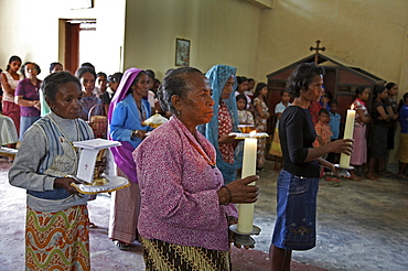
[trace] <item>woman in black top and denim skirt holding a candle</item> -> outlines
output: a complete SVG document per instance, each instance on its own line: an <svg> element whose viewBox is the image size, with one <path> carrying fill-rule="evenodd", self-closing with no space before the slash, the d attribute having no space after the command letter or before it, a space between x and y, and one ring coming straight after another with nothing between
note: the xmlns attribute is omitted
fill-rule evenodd
<svg viewBox="0 0 408 271"><path fill-rule="evenodd" d="M272 270L290 270L292 250L315 246L315 210L319 167L332 171L322 159L329 152L352 152L352 139L336 140L313 149L316 138L308 107L323 94L324 68L314 63L297 66L289 78L289 93L294 97L279 121L279 138L284 165L278 178L277 220L270 259Z"/></svg>

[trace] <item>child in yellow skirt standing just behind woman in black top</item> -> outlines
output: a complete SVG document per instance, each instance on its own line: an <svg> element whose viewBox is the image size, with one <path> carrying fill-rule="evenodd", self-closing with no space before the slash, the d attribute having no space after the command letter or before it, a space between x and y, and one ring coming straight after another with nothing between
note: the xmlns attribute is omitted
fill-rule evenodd
<svg viewBox="0 0 408 271"><path fill-rule="evenodd" d="M283 89L280 93L280 98L281 101L275 106L275 115L277 116L277 123L275 126L275 131L273 131L273 139L272 143L270 144L269 149L269 154L275 156L275 166L273 171L280 171L283 166L283 159L282 159L282 149L280 148L280 140L279 140L279 120L280 117L282 116L282 112L287 107L290 106L290 95L289 95L289 89ZM281 161L280 166L279 166L279 161Z"/></svg>

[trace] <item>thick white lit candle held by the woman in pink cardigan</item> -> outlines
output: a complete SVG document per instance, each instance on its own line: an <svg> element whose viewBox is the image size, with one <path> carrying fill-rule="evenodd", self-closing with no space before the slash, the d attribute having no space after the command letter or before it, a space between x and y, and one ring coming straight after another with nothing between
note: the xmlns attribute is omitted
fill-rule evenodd
<svg viewBox="0 0 408 271"><path fill-rule="evenodd" d="M250 132L254 137L256 131ZM244 160L241 178L256 174L257 165L257 139L247 138L244 142ZM249 185L255 185L250 183ZM243 234L253 232L254 204L239 204L238 207L238 231Z"/></svg>

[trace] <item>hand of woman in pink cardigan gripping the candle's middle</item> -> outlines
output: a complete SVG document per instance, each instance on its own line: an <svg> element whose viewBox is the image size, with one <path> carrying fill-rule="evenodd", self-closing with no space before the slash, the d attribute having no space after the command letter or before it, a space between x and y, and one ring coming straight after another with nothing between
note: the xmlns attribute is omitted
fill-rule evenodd
<svg viewBox="0 0 408 271"><path fill-rule="evenodd" d="M253 175L245 178L236 180L217 191L219 203L255 203L258 199L258 187L248 185L259 180L259 176ZM229 194L230 193L230 194Z"/></svg>

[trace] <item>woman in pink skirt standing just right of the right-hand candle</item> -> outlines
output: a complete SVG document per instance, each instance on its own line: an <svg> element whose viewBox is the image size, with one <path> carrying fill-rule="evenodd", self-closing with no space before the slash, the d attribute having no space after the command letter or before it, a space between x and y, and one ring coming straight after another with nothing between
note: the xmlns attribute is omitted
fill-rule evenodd
<svg viewBox="0 0 408 271"><path fill-rule="evenodd" d="M356 111L354 121L354 132L353 132L353 153L350 159L350 163L356 167L362 166L367 162L367 140L366 130L367 124L372 121L369 117L368 109L365 105L369 98L368 87L357 87L355 90L356 99L353 102L353 109ZM359 181L362 177L358 176L354 170L350 171L350 178L353 181Z"/></svg>

